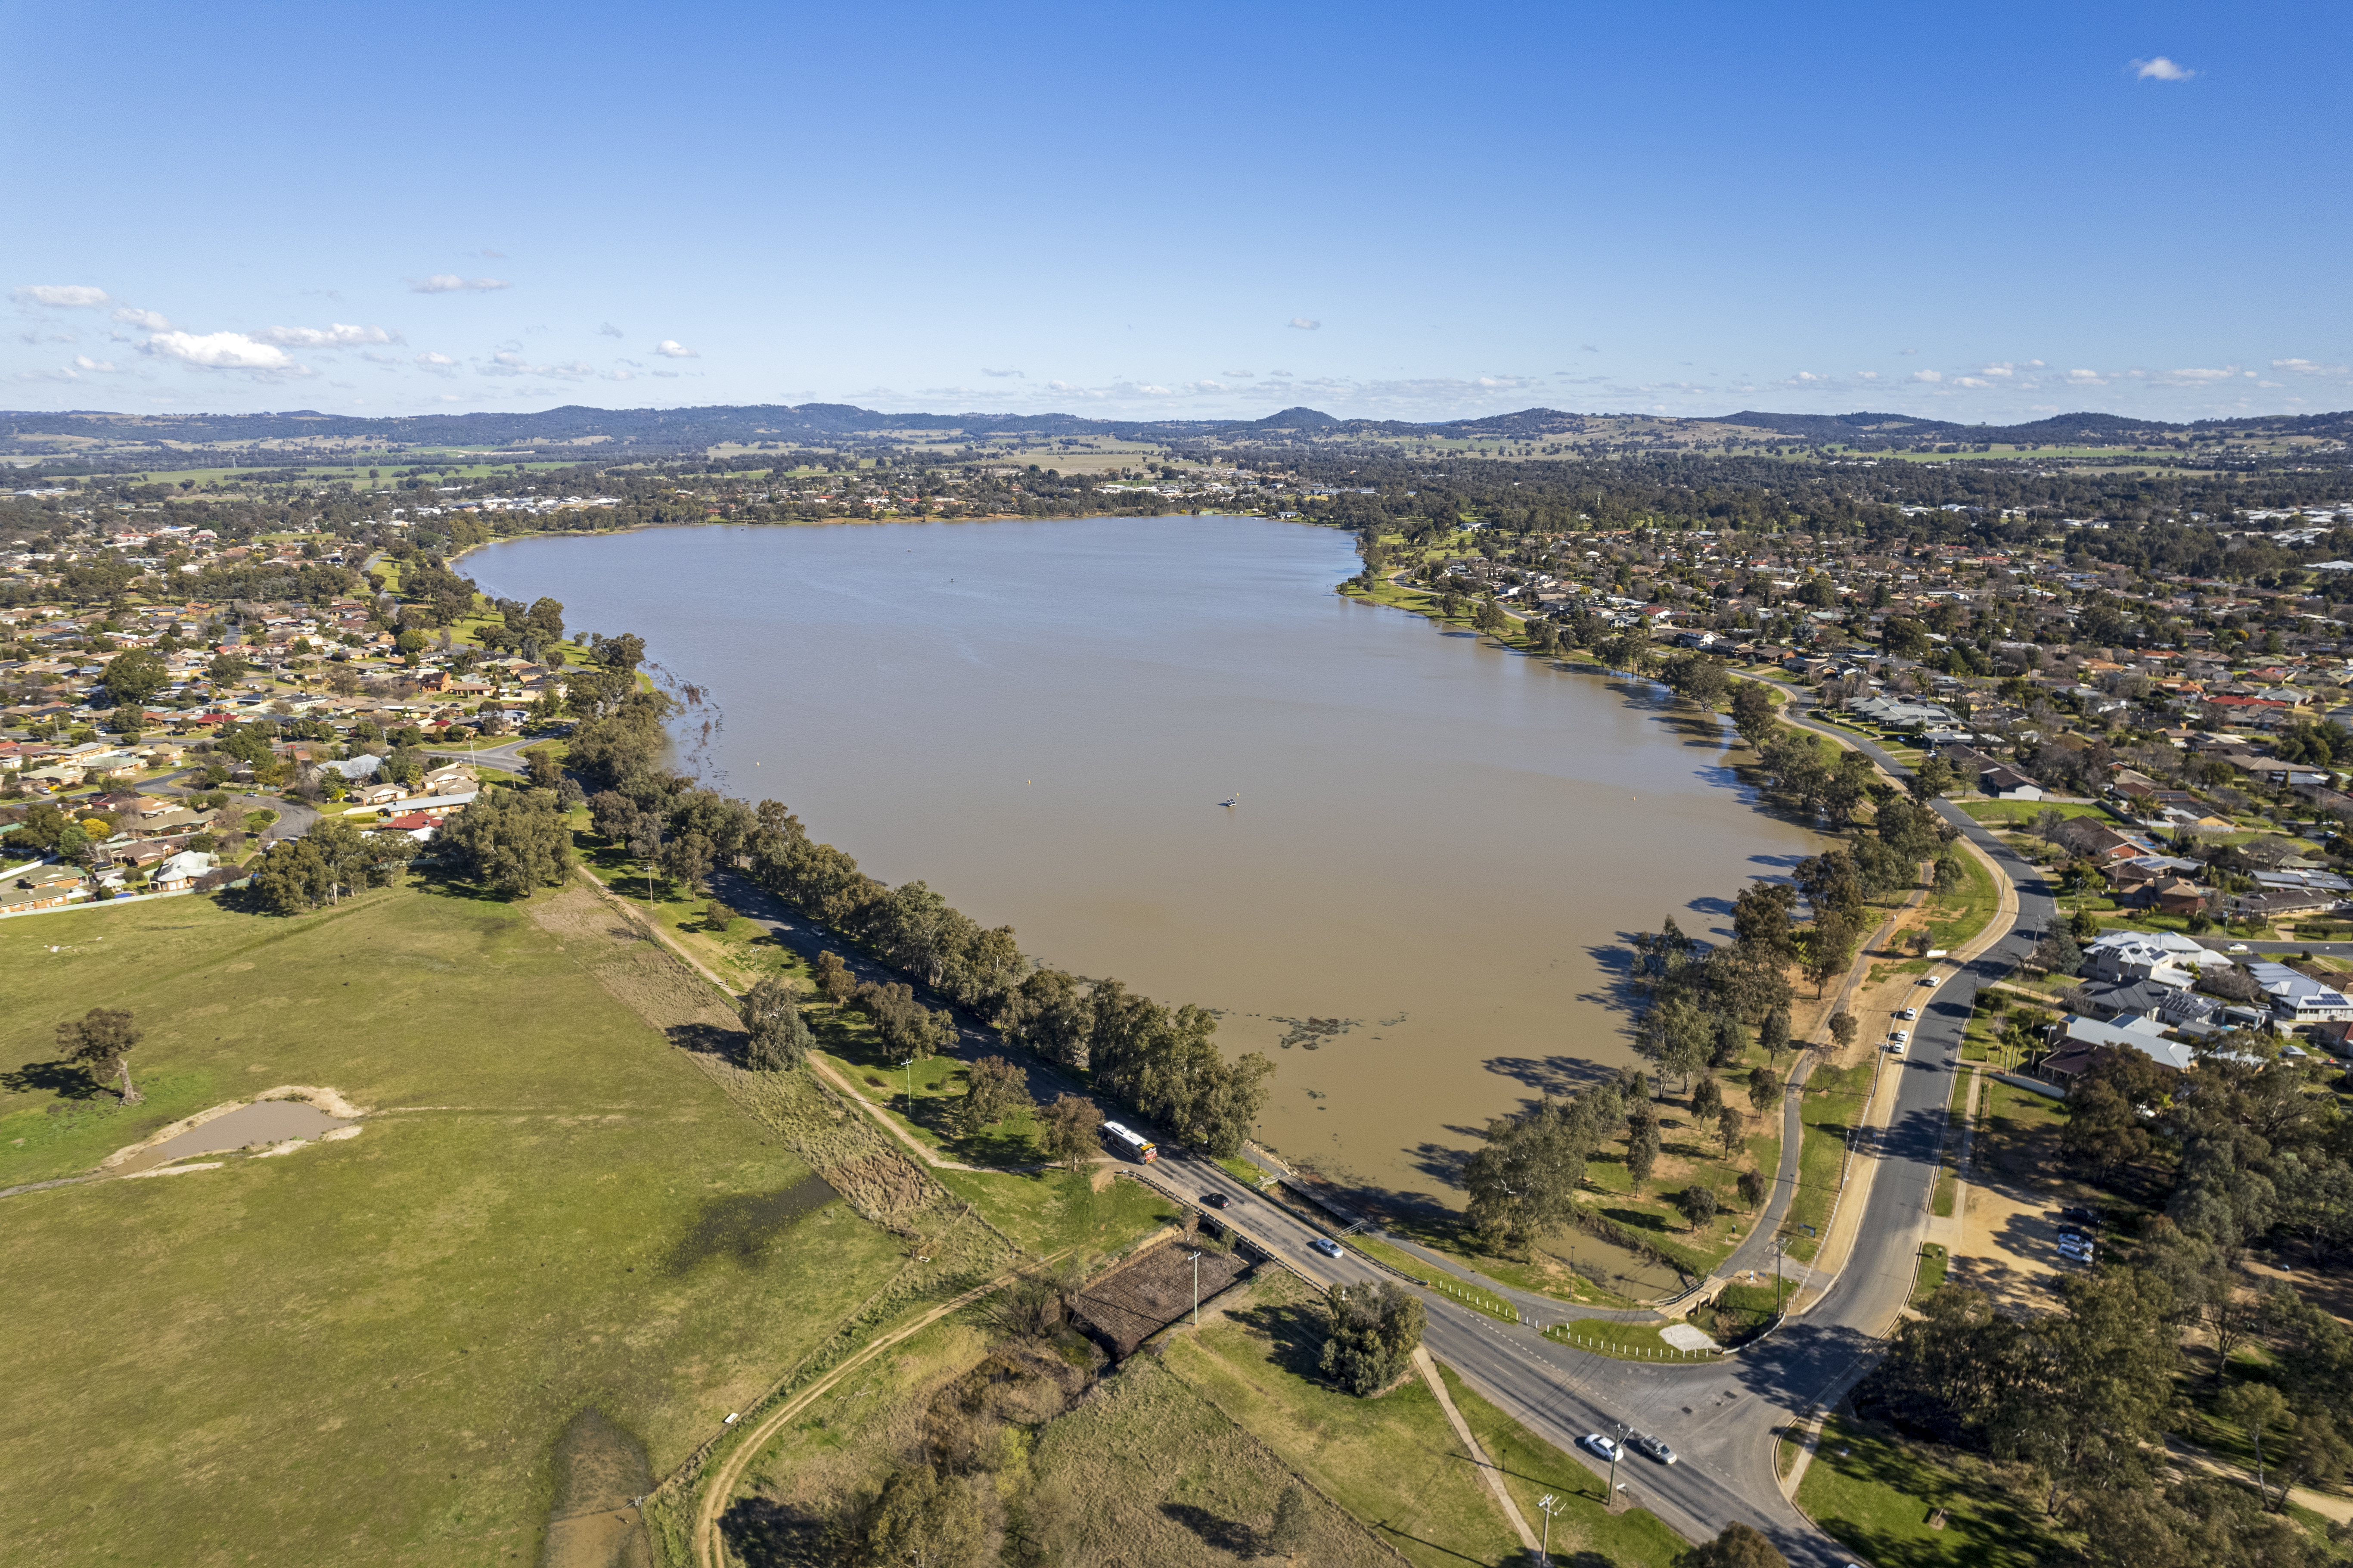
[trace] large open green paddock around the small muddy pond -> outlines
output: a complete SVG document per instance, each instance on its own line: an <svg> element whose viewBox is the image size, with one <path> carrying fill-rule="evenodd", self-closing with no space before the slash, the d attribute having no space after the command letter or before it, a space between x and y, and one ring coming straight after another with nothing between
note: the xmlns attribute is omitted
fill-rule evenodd
<svg viewBox="0 0 2353 1568"><path fill-rule="evenodd" d="M9 1561L527 1563L574 1415L659 1476L901 1276L849 1205L779 1205L809 1168L532 911L0 925L5 1182L285 1083L372 1109L285 1158L7 1198ZM52 1062L85 1005L136 1012L146 1107Z"/></svg>

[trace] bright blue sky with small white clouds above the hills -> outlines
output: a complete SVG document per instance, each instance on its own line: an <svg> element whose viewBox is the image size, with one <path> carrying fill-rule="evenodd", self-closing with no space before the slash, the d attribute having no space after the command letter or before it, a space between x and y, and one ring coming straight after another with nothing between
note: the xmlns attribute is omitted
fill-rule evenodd
<svg viewBox="0 0 2353 1568"><path fill-rule="evenodd" d="M2344 5L0 2L0 405L2353 405Z"/></svg>

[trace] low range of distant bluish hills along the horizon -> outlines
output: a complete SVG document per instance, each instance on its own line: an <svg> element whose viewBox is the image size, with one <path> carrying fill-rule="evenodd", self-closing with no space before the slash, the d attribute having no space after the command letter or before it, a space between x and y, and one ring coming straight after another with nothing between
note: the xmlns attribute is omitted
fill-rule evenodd
<svg viewBox="0 0 2353 1568"><path fill-rule="evenodd" d="M1529 407L1518 414L1412 424L1400 419L1334 419L1313 407L1287 407L1264 419L1082 419L1078 414L887 414L849 403L722 405L722 407L551 407L536 414L407 414L355 419L289 410L280 414L108 414L0 412L0 454L125 457L172 447L259 459L313 457L320 447L466 450L515 457L581 459L619 454L689 454L711 447L856 447L920 440L1078 440L1120 438L1153 443L1294 445L1294 443L1412 443L1473 440L1553 445L1560 450L1673 450L1732 445L1915 450L1953 447L2181 447L2228 440L2344 443L2353 414L2273 414L2162 424L2120 414L2054 414L2033 424L1951 424L1913 414L1767 414L1744 410L1701 419L1649 414L1567 414Z"/></svg>

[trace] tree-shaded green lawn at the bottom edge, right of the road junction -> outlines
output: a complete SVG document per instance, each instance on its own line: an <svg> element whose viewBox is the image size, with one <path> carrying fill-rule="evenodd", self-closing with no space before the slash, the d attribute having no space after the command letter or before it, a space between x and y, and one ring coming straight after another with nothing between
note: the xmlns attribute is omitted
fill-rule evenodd
<svg viewBox="0 0 2353 1568"><path fill-rule="evenodd" d="M1969 1455L1908 1443L1833 1415L1798 1483L1798 1507L1873 1563L2047 1568L2071 1542L2042 1528L2033 1479ZM1929 1523L1944 1514L1944 1528Z"/></svg>

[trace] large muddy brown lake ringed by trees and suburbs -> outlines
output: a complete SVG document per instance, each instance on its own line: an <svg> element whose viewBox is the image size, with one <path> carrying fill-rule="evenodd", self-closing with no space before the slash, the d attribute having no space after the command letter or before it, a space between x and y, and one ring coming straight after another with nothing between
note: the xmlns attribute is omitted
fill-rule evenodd
<svg viewBox="0 0 2353 1568"><path fill-rule="evenodd" d="M466 570L711 690L729 793L1047 963L1219 1008L1280 1069L1264 1140L1398 1198L1459 1205L1475 1128L1633 1059L1621 932L1722 928L1814 850L1661 687L1339 598L1334 530L689 527Z"/></svg>

